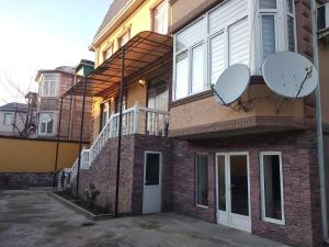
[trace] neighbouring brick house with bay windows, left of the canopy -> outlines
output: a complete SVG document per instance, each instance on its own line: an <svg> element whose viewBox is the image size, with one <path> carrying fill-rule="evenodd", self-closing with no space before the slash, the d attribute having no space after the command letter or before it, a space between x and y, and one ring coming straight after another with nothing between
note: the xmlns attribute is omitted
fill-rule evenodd
<svg viewBox="0 0 329 247"><path fill-rule="evenodd" d="M36 136L38 138L56 139L58 136L58 123L60 113L61 96L70 89L75 82L81 79L86 71L93 69L93 63L81 60L73 67L61 66L50 70L38 70L35 81L38 82L37 100L37 126ZM78 74L76 74L76 71ZM86 106L87 122L90 122L91 104ZM79 141L80 128L77 124L81 122L81 98L66 97L63 98L61 128L60 139ZM86 124L83 128L83 141L90 139L91 125Z"/></svg>

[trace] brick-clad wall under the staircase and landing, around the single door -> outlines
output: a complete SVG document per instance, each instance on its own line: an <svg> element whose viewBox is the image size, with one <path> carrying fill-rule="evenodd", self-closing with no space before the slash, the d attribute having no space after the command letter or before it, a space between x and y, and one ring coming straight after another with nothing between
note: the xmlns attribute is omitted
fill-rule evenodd
<svg viewBox="0 0 329 247"><path fill-rule="evenodd" d="M144 153L162 153L162 211L171 211L171 141L164 137L129 135L122 138L118 212L143 213ZM117 138L109 139L89 170L81 170L79 194L83 197L89 183L100 195L98 204L114 210L116 188Z"/></svg>

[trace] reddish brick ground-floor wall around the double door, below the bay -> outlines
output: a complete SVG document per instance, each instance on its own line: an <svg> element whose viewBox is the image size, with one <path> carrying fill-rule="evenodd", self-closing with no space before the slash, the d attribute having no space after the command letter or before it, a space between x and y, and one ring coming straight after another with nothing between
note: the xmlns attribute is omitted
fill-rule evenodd
<svg viewBox="0 0 329 247"><path fill-rule="evenodd" d="M293 246L320 246L321 215L319 179L314 132L266 134L225 139L178 141L173 144L174 210L215 222L216 151L249 151L252 233ZM261 220L259 153L280 150L283 157L285 225ZM194 203L194 154L207 153L209 207Z"/></svg>

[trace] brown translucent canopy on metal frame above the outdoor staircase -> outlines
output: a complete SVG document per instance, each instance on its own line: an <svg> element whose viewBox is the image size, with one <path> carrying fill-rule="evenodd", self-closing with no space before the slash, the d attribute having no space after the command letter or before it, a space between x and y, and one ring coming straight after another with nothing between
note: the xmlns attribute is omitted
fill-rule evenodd
<svg viewBox="0 0 329 247"><path fill-rule="evenodd" d="M83 83L87 82L86 97L104 97L117 92L121 83L122 49L124 48L124 79L143 74L149 65L172 53L172 37L145 31L131 38L124 47L116 50L84 80L81 79L63 97L83 96Z"/></svg>

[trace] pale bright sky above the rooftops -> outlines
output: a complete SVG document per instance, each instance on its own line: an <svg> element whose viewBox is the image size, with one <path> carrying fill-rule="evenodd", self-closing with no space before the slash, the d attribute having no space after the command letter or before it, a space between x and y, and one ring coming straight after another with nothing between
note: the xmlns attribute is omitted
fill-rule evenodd
<svg viewBox="0 0 329 247"><path fill-rule="evenodd" d="M0 105L36 91L38 69L94 60L88 46L111 2L0 0Z"/></svg>

